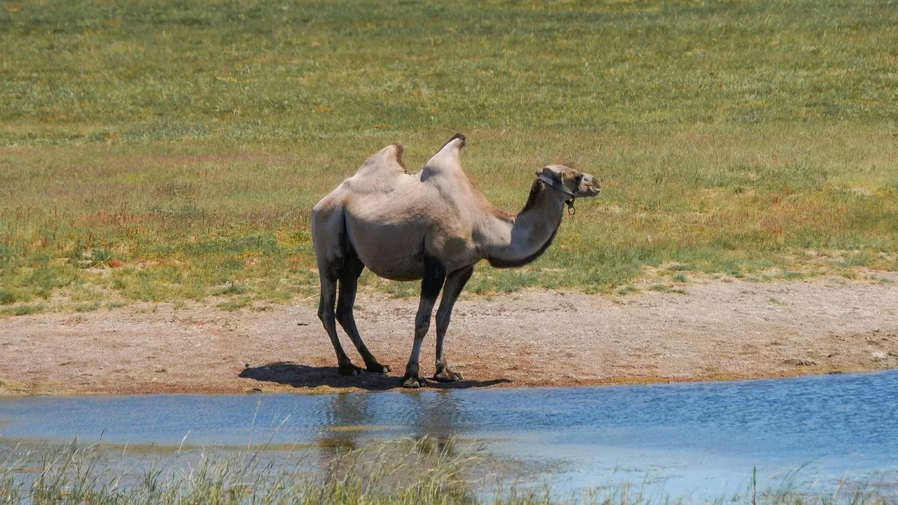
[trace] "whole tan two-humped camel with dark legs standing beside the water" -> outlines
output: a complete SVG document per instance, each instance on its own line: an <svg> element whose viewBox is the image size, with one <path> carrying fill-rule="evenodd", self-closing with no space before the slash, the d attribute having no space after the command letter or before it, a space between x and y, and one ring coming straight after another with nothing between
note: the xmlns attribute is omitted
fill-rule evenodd
<svg viewBox="0 0 898 505"><path fill-rule="evenodd" d="M415 340L401 384L424 385L418 377L418 355L440 290L434 379L462 380L462 374L447 365L443 344L453 305L474 265L487 260L494 267L512 268L537 259L552 243L565 203L573 208L574 199L599 193L592 175L550 164L536 172L524 209L516 216L506 214L489 203L462 170L464 141L456 134L419 173L406 171L402 146L386 146L313 208L312 237L321 276L318 315L337 351L339 374L355 375L362 368L353 365L340 346L337 322L367 371L390 371L365 347L353 317L357 279L367 267L385 279L421 279Z"/></svg>

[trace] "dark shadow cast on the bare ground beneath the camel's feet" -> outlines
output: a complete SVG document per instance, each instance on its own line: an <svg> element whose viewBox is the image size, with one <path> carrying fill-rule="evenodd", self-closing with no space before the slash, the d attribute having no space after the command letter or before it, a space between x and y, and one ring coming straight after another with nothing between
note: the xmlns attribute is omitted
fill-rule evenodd
<svg viewBox="0 0 898 505"><path fill-rule="evenodd" d="M333 388L357 388L365 391L389 391L402 389L400 376L390 374L373 374L362 372L357 376L341 376L337 367L310 367L292 361L278 361L260 367L243 368L240 377L260 382L274 382L292 385L293 387L318 387L321 385ZM488 387L490 385L512 382L506 378L492 380L462 380L458 382L436 382L427 379L423 389L467 389L469 387Z"/></svg>

